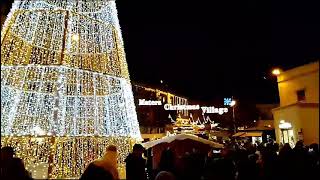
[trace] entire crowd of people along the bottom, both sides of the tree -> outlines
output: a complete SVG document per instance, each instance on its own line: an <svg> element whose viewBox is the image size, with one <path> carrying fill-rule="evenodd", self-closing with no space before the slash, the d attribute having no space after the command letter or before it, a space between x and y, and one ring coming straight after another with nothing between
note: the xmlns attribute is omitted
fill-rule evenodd
<svg viewBox="0 0 320 180"><path fill-rule="evenodd" d="M128 180L255 180L311 179L319 177L319 145L304 146L298 141L294 148L273 141L226 142L223 149L202 154L194 149L176 155L165 149L158 166L147 166L145 149L135 144L126 158ZM90 163L80 179L118 180L117 147L107 147L105 155ZM23 161L14 157L11 147L1 148L1 179L32 179Z"/></svg>

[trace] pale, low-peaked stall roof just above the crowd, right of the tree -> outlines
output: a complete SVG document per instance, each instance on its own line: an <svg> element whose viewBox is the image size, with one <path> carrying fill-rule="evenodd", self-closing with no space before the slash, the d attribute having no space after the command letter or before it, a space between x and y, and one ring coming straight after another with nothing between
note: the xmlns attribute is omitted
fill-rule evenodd
<svg viewBox="0 0 320 180"><path fill-rule="evenodd" d="M200 142L203 144L207 144L213 148L223 148L222 144L215 143L215 142L209 141L207 139L203 139L198 136L190 135L190 134L178 134L178 135L174 135L174 136L168 136L168 137L164 137L162 139L158 139L155 141L145 142L142 145L144 148L149 149L149 148L156 146L158 144L161 144L161 143L171 143L176 140L188 140L188 139L193 140L193 141L197 141L197 142Z"/></svg>

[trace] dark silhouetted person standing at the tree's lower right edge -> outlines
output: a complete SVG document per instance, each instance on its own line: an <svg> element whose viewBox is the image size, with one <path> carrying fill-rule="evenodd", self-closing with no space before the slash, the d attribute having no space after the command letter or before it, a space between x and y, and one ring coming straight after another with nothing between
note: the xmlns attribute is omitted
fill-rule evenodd
<svg viewBox="0 0 320 180"><path fill-rule="evenodd" d="M135 144L133 151L130 153L126 162L126 177L127 180L146 180L145 171L146 160L142 157L144 148L141 144Z"/></svg>

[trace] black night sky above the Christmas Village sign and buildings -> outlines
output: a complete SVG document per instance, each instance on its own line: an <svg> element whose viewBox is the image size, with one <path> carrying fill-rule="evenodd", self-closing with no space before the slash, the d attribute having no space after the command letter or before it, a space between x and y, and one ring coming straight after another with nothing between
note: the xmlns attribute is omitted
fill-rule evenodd
<svg viewBox="0 0 320 180"><path fill-rule="evenodd" d="M117 7L131 79L162 79L193 99L272 103L272 67L320 57L319 6L304 1L118 0Z"/></svg>

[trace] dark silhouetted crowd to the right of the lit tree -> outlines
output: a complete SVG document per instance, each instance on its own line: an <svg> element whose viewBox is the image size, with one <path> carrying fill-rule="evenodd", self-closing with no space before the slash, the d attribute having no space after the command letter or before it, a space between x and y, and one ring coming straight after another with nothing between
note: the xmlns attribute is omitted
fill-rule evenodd
<svg viewBox="0 0 320 180"><path fill-rule="evenodd" d="M146 171L142 153L128 164L128 179L146 180L284 180L313 179L319 177L319 145L304 146L298 141L294 148L289 144L278 145L273 141L226 142L223 149L211 149L201 154L192 152L176 155L174 149L162 152L156 169ZM139 163L138 163L139 162Z"/></svg>

